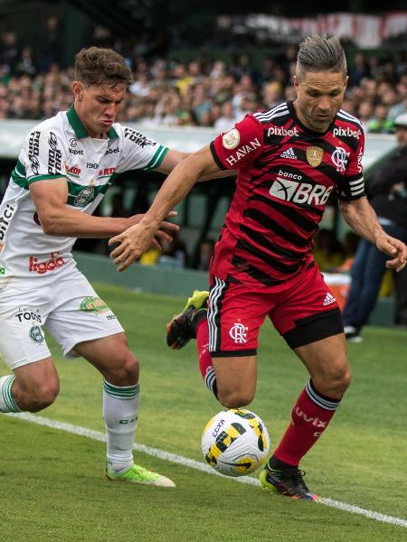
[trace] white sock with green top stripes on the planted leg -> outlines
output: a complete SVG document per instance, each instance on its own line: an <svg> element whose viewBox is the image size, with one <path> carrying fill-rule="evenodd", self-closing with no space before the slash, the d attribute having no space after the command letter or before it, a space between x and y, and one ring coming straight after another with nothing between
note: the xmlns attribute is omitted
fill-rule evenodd
<svg viewBox="0 0 407 542"><path fill-rule="evenodd" d="M116 474L133 465L140 385L114 386L103 380L103 417L108 441L108 470Z"/></svg>

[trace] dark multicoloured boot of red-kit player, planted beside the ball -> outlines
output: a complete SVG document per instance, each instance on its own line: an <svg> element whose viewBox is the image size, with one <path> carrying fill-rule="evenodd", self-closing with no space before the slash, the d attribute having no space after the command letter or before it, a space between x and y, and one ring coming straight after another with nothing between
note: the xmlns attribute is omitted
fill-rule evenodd
<svg viewBox="0 0 407 542"><path fill-rule="evenodd" d="M260 472L260 483L264 490L277 491L291 499L318 502L321 500L320 497L308 490L303 479L304 475L305 472L300 471L297 467L270 469L270 466L266 466Z"/></svg>

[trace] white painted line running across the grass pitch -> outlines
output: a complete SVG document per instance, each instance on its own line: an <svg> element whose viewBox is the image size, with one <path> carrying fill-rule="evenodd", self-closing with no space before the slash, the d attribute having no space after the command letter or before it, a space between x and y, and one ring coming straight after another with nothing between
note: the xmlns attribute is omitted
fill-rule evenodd
<svg viewBox="0 0 407 542"><path fill-rule="evenodd" d="M44 425L45 427L52 427L52 429L60 429L61 431L66 431L73 435L87 436L93 440L100 442L106 442L106 435L100 433L99 431L93 431L92 429L87 429L86 427L80 427L80 425L71 425L65 424L64 422L58 422L55 420L50 420L42 416L34 416L29 412L23 412L21 414L7 414L6 416L14 416L20 419L25 420L26 422L32 422L33 424ZM184 467L190 467L196 471L206 472L207 474L214 474L215 476L222 476L216 471L206 465L205 463L200 463L194 461L194 459L188 459L182 455L177 455L176 453L164 452L158 448L151 448L150 446L145 446L144 444L134 444L134 450L137 452L147 453L147 455L152 455L158 459L164 459L171 463L178 463ZM260 481L256 478L251 478L250 476L241 476L239 478L231 478L229 476L222 476L222 478L227 478L228 480L240 481L241 483L246 483L250 485L260 486ZM380 512L374 512L373 510L359 508L353 504L346 504L340 500L332 500L328 498L323 498L321 504L330 506L332 508L345 510L346 512L351 512L353 514L359 514L368 519L374 519L375 521L382 521L383 523L391 523L392 525L398 525L400 527L407 528L407 519L393 518L393 516L387 516L386 514L381 514Z"/></svg>

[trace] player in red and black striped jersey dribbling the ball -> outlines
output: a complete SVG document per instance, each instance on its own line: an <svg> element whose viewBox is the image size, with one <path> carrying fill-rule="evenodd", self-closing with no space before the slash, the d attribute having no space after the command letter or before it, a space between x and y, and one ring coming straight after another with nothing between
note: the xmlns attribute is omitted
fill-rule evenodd
<svg viewBox="0 0 407 542"><path fill-rule="evenodd" d="M349 386L345 335L336 298L312 257L329 194L346 222L405 266L407 248L387 235L364 196L364 134L340 107L345 53L337 38L313 36L299 46L297 99L247 115L211 145L179 164L139 224L111 239L118 270L149 246L168 210L203 176L237 170L236 191L211 265L211 289L195 293L168 327L173 348L197 338L206 385L227 407L251 403L260 325L266 317L308 369L291 423L260 473L263 486L317 500L298 468L327 428ZM207 306L207 308L206 308Z"/></svg>

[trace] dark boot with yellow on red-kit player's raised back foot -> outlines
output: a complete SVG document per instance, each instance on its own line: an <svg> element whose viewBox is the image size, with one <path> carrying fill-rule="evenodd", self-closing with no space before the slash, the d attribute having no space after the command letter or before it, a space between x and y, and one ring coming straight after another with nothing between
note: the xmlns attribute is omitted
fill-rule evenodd
<svg viewBox="0 0 407 542"><path fill-rule="evenodd" d="M188 297L182 313L177 314L166 324L166 344L180 350L190 339L196 337L196 324L206 317L206 305L209 292L194 290L194 294Z"/></svg>

